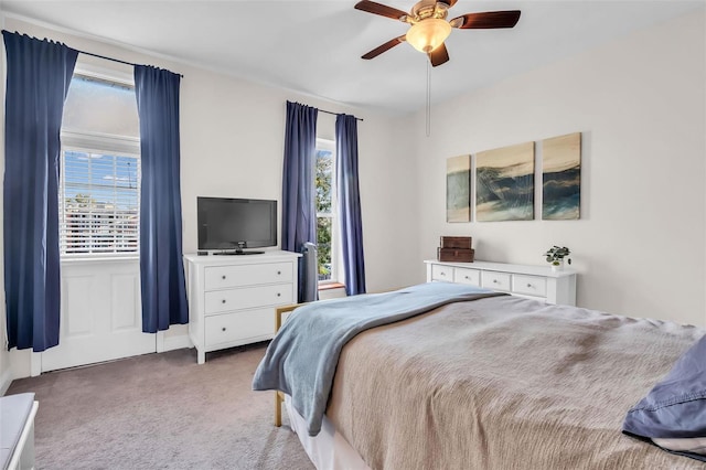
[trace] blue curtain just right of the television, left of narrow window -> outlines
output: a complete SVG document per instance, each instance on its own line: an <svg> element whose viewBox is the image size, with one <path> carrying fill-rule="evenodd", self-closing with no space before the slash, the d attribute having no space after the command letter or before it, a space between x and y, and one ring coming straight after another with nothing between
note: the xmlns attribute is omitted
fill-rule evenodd
<svg viewBox="0 0 706 470"><path fill-rule="evenodd" d="M287 102L285 171L282 174L282 249L301 253L307 242L317 243L314 159L319 110ZM304 298L304 263L299 259L299 299ZM315 299L313 299L315 300Z"/></svg>

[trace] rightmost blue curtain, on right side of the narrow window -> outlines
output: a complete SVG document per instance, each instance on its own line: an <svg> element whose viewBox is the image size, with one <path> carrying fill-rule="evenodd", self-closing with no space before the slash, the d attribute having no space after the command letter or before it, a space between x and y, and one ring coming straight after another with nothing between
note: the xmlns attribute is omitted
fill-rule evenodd
<svg viewBox="0 0 706 470"><path fill-rule="evenodd" d="M336 116L335 141L345 291L349 296L354 296L365 293L361 191L357 182L357 119L355 116Z"/></svg>

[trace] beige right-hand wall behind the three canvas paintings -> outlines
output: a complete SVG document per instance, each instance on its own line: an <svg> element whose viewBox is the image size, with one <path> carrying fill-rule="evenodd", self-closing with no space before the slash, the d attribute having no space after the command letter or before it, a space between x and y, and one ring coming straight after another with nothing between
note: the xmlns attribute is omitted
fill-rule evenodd
<svg viewBox="0 0 706 470"><path fill-rule="evenodd" d="M532 265L566 245L580 306L706 325L704 38L699 12L434 107L415 141L418 258L440 235ZM424 136L424 114L407 127ZM537 169L535 221L446 223L447 158L569 132L584 137L580 221L541 221Z"/></svg>

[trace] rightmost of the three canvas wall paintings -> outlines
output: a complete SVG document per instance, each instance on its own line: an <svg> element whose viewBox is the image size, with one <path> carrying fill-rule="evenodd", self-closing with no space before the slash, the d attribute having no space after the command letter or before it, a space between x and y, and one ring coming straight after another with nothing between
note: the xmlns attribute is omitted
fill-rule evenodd
<svg viewBox="0 0 706 470"><path fill-rule="evenodd" d="M574 221L580 215L581 133L542 141L542 218Z"/></svg>

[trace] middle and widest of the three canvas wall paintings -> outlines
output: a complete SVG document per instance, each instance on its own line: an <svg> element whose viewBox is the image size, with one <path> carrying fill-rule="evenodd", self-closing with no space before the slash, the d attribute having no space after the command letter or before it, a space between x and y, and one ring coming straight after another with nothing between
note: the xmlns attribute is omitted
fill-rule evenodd
<svg viewBox="0 0 706 470"><path fill-rule="evenodd" d="M534 142L475 156L475 220L534 220Z"/></svg>

